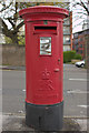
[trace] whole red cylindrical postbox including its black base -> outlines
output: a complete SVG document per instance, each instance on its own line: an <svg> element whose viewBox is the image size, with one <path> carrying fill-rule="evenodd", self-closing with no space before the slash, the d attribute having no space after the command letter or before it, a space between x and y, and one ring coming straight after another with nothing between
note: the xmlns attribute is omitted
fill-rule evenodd
<svg viewBox="0 0 89 133"><path fill-rule="evenodd" d="M26 24L26 123L58 131L63 117L62 22L68 11L39 6L19 14Z"/></svg>

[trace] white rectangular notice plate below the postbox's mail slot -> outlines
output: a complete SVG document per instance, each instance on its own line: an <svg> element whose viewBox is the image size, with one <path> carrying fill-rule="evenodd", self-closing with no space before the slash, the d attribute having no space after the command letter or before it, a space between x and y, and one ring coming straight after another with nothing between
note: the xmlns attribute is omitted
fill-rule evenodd
<svg viewBox="0 0 89 133"><path fill-rule="evenodd" d="M51 55L51 37L40 37L40 55Z"/></svg>

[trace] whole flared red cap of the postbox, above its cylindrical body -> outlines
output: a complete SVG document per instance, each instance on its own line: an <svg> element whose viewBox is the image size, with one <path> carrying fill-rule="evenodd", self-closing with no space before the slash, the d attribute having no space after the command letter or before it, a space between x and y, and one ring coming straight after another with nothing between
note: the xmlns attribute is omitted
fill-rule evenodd
<svg viewBox="0 0 89 133"><path fill-rule="evenodd" d="M69 16L69 11L53 6L36 6L19 11L26 21L56 20L60 21Z"/></svg>

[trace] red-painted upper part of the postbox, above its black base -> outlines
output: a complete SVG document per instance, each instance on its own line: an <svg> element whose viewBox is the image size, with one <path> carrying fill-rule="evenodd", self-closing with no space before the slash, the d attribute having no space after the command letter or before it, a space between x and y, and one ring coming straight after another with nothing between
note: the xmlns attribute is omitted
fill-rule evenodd
<svg viewBox="0 0 89 133"><path fill-rule="evenodd" d="M33 104L60 103L63 100L62 19L68 11L55 7L33 7L19 13L26 24L26 101ZM51 53L40 54L41 39L51 40Z"/></svg>

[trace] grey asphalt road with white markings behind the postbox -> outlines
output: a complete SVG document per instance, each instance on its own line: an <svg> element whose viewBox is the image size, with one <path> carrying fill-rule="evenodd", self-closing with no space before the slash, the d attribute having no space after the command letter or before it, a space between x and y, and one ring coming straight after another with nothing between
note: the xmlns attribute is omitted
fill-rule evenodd
<svg viewBox="0 0 89 133"><path fill-rule="evenodd" d="M65 116L87 116L87 71L75 65L63 65ZM2 71L2 112L24 113L26 71Z"/></svg>

